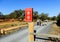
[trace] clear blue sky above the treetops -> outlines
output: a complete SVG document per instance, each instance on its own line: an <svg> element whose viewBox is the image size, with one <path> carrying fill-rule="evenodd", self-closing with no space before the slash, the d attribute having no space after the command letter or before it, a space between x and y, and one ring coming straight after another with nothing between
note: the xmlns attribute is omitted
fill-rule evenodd
<svg viewBox="0 0 60 42"><path fill-rule="evenodd" d="M0 0L0 12L3 14L30 7L39 13L57 16L60 13L60 0Z"/></svg>

